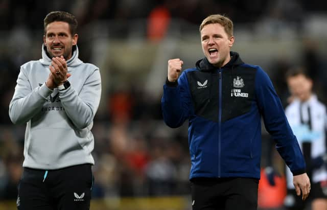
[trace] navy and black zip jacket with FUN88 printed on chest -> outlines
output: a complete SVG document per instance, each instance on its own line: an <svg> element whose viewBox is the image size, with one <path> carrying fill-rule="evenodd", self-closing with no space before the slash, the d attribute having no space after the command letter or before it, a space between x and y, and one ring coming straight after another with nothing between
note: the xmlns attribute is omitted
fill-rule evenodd
<svg viewBox="0 0 327 210"><path fill-rule="evenodd" d="M166 81L162 113L171 128L189 120L190 179L260 178L261 117L293 175L305 160L268 75L245 64L238 53L222 68L206 58Z"/></svg>

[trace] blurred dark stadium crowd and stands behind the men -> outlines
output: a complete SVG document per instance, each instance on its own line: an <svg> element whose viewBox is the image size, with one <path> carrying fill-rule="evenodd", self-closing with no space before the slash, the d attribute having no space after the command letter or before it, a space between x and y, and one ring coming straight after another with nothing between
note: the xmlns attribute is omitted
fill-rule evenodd
<svg viewBox="0 0 327 210"><path fill-rule="evenodd" d="M92 130L96 182L91 209L191 209L188 125L168 128L160 97L168 59L181 58L185 69L203 57L198 27L209 14L233 20L232 50L265 69L284 105L289 92L283 75L292 65L310 69L326 102L324 1L0 0L0 209L15 209L23 159L25 126L12 125L8 105L19 66L41 56L43 18L54 10L78 18L80 58L98 65L102 75ZM262 167L267 165L284 172L263 129ZM261 208L282 209L283 183L274 201L267 201L274 197L265 194L269 186L260 192Z"/></svg>

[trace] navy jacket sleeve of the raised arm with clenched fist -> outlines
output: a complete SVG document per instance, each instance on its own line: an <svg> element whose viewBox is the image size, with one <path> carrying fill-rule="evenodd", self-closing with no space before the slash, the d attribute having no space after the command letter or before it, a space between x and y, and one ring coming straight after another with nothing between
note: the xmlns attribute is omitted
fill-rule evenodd
<svg viewBox="0 0 327 210"><path fill-rule="evenodd" d="M171 128L181 126L190 116L192 100L185 71L177 82L166 80L164 94L161 98L162 115Z"/></svg>

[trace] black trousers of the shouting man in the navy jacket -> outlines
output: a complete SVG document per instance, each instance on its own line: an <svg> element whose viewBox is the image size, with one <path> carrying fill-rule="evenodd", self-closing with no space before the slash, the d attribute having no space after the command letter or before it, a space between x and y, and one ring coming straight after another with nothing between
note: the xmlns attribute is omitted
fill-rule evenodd
<svg viewBox="0 0 327 210"><path fill-rule="evenodd" d="M256 210L259 180L254 178L194 178L193 210Z"/></svg>

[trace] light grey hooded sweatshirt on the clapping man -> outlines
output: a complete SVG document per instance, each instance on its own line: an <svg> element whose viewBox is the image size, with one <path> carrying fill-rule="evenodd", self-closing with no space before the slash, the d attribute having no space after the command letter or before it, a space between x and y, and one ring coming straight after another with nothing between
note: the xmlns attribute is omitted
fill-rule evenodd
<svg viewBox="0 0 327 210"><path fill-rule="evenodd" d="M74 46L67 60L71 86L50 90L45 81L51 58L45 52L42 45L42 58L20 67L9 105L11 121L26 123L23 167L53 170L94 164L91 128L101 96L99 68L83 63Z"/></svg>

